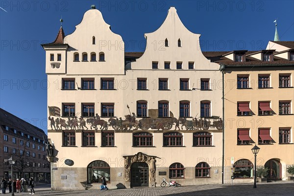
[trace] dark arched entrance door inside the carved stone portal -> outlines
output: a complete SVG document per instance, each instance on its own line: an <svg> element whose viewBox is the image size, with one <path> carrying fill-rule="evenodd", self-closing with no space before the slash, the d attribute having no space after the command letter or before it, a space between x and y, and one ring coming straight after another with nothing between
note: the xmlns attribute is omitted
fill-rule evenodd
<svg viewBox="0 0 294 196"><path fill-rule="evenodd" d="M136 162L131 165L131 186L149 186L149 167L147 163Z"/></svg>

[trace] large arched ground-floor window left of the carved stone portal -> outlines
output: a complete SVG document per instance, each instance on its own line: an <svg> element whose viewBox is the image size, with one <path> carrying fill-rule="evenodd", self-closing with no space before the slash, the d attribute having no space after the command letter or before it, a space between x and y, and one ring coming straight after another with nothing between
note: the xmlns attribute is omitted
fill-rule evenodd
<svg viewBox="0 0 294 196"><path fill-rule="evenodd" d="M101 177L105 177L110 183L110 166L105 161L93 161L87 167L88 183L101 183Z"/></svg>

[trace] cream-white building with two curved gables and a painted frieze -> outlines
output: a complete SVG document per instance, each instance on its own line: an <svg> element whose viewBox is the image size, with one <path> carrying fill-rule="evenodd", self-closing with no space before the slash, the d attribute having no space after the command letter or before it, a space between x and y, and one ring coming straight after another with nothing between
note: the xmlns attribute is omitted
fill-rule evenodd
<svg viewBox="0 0 294 196"><path fill-rule="evenodd" d="M221 183L219 64L199 48L176 9L147 49L125 63L123 39L94 7L46 50L53 190ZM201 117L201 118L200 118ZM52 126L50 126L50 124ZM180 130L179 130L180 129Z"/></svg>

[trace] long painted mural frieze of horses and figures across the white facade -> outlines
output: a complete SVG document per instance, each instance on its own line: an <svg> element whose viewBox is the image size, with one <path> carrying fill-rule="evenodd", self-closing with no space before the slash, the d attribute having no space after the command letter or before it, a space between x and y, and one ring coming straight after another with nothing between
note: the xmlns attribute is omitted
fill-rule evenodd
<svg viewBox="0 0 294 196"><path fill-rule="evenodd" d="M205 118L158 117L157 109L148 110L149 117L138 120L135 113L120 118L103 120L98 114L95 117L60 117L60 109L49 106L49 126L52 130L115 130L116 132L132 132L136 130L208 130L222 129L222 120L218 116ZM54 117L51 117L54 116ZM188 120L189 119L189 120ZM191 119L191 120L190 120Z"/></svg>

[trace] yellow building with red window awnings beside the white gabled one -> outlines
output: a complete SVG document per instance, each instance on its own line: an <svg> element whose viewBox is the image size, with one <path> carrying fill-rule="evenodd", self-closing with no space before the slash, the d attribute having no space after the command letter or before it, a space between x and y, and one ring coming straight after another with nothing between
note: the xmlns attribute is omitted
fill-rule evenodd
<svg viewBox="0 0 294 196"><path fill-rule="evenodd" d="M270 170L268 180L290 176L286 169L294 164L293 46L294 42L271 41L267 50L220 56L225 84L225 183L231 175L237 183L253 181L254 145L260 147L257 167Z"/></svg>

